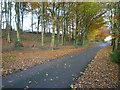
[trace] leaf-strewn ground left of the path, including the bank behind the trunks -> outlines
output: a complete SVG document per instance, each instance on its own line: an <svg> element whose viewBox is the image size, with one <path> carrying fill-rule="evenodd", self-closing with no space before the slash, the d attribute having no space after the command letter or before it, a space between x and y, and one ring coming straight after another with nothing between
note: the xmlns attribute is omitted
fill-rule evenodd
<svg viewBox="0 0 120 90"><path fill-rule="evenodd" d="M92 46L78 47L66 42L66 45L59 45L59 48L51 51L50 42L51 37L49 34L45 36L44 48L41 49L40 35L32 33L22 33L21 43L24 47L22 49L14 48L14 42L16 39L16 32L11 33L11 43L7 43L7 32L3 30L2 38L2 75L6 76L10 73L26 70L38 64L42 64L46 61L54 60L55 58L62 57L68 54L80 52ZM68 44L67 44L68 43Z"/></svg>

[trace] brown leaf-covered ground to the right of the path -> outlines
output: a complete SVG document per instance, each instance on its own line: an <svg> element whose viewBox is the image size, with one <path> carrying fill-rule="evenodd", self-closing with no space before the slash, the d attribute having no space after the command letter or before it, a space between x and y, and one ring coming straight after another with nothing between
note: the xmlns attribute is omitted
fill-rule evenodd
<svg viewBox="0 0 120 90"><path fill-rule="evenodd" d="M120 66L109 60L111 47L101 49L85 69L73 88L118 88Z"/></svg>

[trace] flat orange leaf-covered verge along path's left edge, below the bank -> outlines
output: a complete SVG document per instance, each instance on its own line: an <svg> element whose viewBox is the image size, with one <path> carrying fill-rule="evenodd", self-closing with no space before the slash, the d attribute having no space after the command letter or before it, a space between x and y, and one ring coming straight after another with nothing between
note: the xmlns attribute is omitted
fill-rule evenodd
<svg viewBox="0 0 120 90"><path fill-rule="evenodd" d="M80 52L94 47L95 45L73 48L72 46L62 46L57 50L13 50L2 52L2 75L26 70L44 62L55 60L56 58Z"/></svg>

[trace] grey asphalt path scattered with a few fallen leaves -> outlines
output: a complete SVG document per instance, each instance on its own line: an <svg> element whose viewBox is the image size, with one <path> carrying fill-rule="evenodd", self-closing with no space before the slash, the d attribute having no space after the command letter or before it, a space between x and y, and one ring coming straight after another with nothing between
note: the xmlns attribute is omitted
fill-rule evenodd
<svg viewBox="0 0 120 90"><path fill-rule="evenodd" d="M108 43L2 77L3 88L69 88Z"/></svg>

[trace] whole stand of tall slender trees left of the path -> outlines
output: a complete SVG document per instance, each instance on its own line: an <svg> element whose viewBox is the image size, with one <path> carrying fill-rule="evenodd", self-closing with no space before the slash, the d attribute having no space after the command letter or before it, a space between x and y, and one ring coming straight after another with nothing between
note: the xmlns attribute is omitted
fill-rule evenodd
<svg viewBox="0 0 120 90"><path fill-rule="evenodd" d="M12 2L13 3L13 2ZM11 6L11 3L8 3ZM8 42L10 42L11 8L5 6ZM105 24L106 7L98 2L15 2L17 40L21 41L20 32L23 31L25 11L31 13L31 28L33 32L33 16L37 16L37 34L41 32L41 46L47 27L51 33L51 48L58 48L66 42L74 42L75 46L84 45L88 34ZM9 11L9 12L8 12ZM1 13L2 14L2 13ZM50 28L52 27L52 28ZM40 30L41 29L41 30ZM47 30L48 31L48 30ZM60 40L61 39L61 40Z"/></svg>

